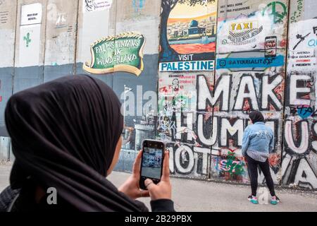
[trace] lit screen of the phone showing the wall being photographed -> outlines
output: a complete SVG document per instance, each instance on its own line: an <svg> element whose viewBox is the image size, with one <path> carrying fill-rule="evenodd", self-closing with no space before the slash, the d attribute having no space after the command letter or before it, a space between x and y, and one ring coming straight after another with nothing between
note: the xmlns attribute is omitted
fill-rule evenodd
<svg viewBox="0 0 317 226"><path fill-rule="evenodd" d="M144 147L142 159L142 177L160 179L163 150Z"/></svg>

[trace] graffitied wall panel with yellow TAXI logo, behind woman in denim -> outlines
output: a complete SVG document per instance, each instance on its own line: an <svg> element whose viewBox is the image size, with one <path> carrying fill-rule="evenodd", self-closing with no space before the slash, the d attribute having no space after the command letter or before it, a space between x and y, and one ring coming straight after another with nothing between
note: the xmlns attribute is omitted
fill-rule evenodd
<svg viewBox="0 0 317 226"><path fill-rule="evenodd" d="M249 124L248 113L260 110L266 125L275 134L270 162L273 180L279 183L282 153L282 121L279 119L284 105L287 1L228 1L219 3L218 7L215 83L230 77L232 85L228 102L222 99L213 107L213 117L223 118L221 126L225 125L228 131L220 133L221 138L213 144L211 175L228 179L217 162L224 157L232 158L232 151L228 150L235 150L236 161L244 170L231 179L249 181L240 149L242 135ZM259 182L265 182L263 175Z"/></svg>

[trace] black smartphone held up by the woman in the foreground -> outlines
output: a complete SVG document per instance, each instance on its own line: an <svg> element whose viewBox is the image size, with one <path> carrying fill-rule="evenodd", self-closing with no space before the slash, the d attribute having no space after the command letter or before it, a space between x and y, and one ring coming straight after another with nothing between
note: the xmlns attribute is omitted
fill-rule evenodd
<svg viewBox="0 0 317 226"><path fill-rule="evenodd" d="M159 184L163 171L165 144L162 141L144 140L142 142L142 159L140 169L139 187L147 190L144 184L146 179L151 179L154 184Z"/></svg>

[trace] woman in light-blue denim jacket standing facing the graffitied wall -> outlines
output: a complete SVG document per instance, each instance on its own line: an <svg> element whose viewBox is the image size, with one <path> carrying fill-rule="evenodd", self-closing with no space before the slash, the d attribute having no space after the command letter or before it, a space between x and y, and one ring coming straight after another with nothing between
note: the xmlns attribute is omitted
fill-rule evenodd
<svg viewBox="0 0 317 226"><path fill-rule="evenodd" d="M249 114L252 124L247 126L243 134L242 155L247 162L249 177L251 180L251 196L249 201L258 204L256 190L258 187L258 165L266 178L266 184L272 196L271 204L278 204L278 197L275 196L274 183L271 177L268 157L273 152L274 134L271 128L264 124L264 117L261 112Z"/></svg>

